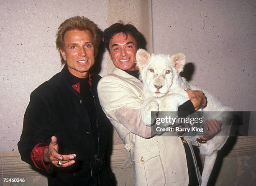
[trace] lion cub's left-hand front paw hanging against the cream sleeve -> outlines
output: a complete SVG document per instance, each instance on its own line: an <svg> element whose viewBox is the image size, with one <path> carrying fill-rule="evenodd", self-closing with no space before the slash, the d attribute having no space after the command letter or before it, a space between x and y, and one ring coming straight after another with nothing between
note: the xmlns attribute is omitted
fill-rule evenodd
<svg viewBox="0 0 256 186"><path fill-rule="evenodd" d="M158 112L158 103L154 98L147 98L142 105L142 121L146 126L151 126L154 124L156 116L152 116L151 111Z"/></svg>

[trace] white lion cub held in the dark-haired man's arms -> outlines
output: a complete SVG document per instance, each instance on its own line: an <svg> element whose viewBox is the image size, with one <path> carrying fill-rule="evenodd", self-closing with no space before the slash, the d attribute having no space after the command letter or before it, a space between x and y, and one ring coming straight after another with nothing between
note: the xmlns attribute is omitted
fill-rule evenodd
<svg viewBox="0 0 256 186"><path fill-rule="evenodd" d="M146 50L139 49L136 53L136 60L146 98L142 106L142 119L146 125L151 126L153 123L151 123L150 111L177 111L178 106L189 99L185 89L195 90L195 88L180 76L186 60L182 53L172 56L150 55ZM201 111L232 111L222 106L206 91L204 93L207 96L207 107ZM220 116L219 112L218 115L212 116L211 114L210 117L222 121L223 126L219 136L215 136L199 147L200 153L206 155L201 186L207 185L217 152L225 144L230 133L230 125L225 125L227 121L222 115ZM195 138L189 139L192 141Z"/></svg>

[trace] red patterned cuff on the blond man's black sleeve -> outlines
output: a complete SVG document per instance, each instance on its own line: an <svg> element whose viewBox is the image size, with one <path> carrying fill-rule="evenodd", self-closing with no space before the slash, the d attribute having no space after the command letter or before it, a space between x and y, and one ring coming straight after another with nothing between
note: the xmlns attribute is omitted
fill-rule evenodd
<svg viewBox="0 0 256 186"><path fill-rule="evenodd" d="M46 165L44 163L44 150L48 147L46 143L37 144L31 151L30 157L36 166L43 171L49 172L51 164Z"/></svg>

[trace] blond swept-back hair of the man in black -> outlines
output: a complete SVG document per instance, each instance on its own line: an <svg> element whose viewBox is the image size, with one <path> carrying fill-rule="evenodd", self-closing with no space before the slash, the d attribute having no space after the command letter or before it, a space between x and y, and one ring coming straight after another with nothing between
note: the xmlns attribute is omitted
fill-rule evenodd
<svg viewBox="0 0 256 186"><path fill-rule="evenodd" d="M93 23L91 20L85 18L84 16L74 16L65 20L61 25L59 25L57 34L56 34L56 48L59 50L61 56L61 63L65 64L66 61L63 59L60 50L64 50L65 42L64 35L69 30L88 30L92 33L93 46L94 46L94 57L98 53L98 48L100 45L100 29L98 26Z"/></svg>

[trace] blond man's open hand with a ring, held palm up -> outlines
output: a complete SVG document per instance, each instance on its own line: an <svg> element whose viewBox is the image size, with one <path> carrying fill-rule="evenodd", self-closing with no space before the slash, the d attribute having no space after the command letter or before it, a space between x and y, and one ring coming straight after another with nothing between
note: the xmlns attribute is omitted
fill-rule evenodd
<svg viewBox="0 0 256 186"><path fill-rule="evenodd" d="M51 142L49 147L44 150L44 161L50 162L54 166L59 167L58 162L60 161L62 167L71 166L75 161L76 154L61 155L58 153L59 146L57 143L57 138L51 136Z"/></svg>

